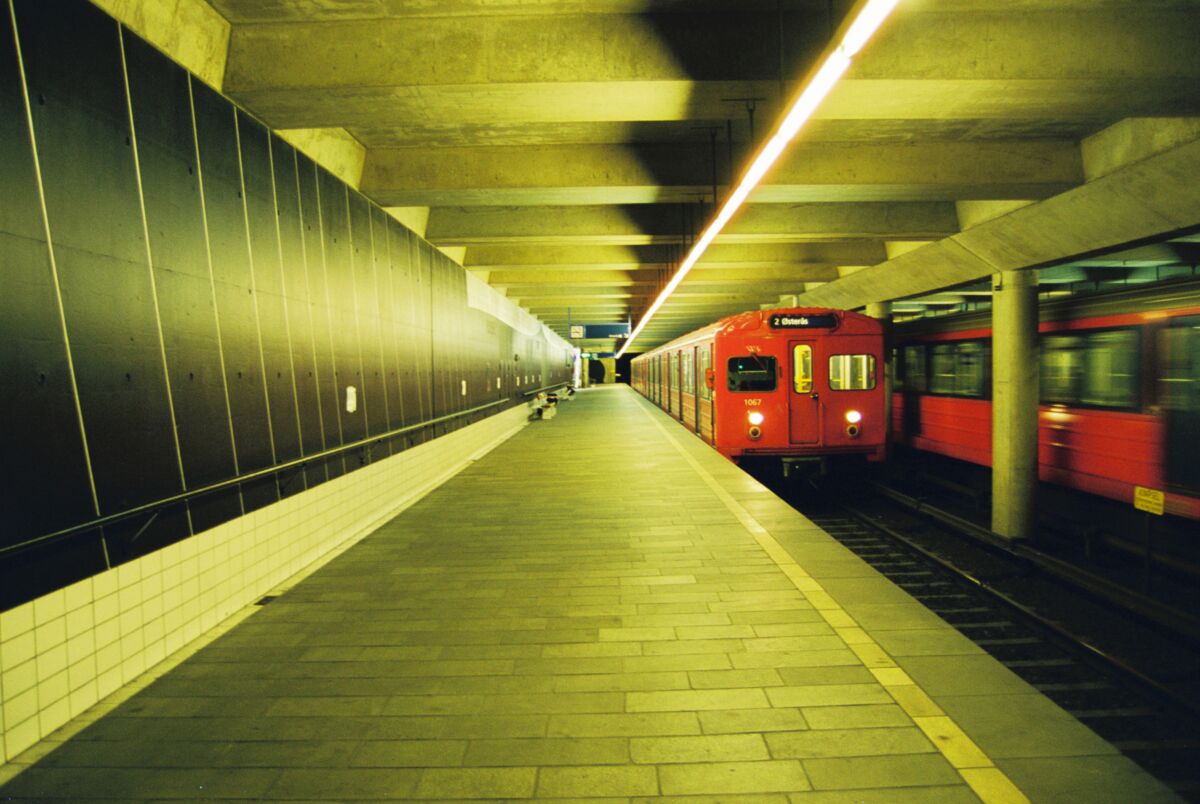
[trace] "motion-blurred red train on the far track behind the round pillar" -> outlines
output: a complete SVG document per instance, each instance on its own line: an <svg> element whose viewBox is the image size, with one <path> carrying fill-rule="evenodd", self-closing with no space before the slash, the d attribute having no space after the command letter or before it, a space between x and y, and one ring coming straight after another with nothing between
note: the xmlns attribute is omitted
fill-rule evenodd
<svg viewBox="0 0 1200 804"><path fill-rule="evenodd" d="M990 313L899 324L892 438L991 464ZM1132 504L1165 493L1200 518L1200 283L1043 304L1038 472Z"/></svg>

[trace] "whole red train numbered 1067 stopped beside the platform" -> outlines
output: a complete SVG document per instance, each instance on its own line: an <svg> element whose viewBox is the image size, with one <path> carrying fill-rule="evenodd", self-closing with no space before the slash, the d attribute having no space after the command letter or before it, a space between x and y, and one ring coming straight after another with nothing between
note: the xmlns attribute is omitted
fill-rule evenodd
<svg viewBox="0 0 1200 804"><path fill-rule="evenodd" d="M881 460L883 331L826 308L745 312L632 360L632 386L733 461Z"/></svg>

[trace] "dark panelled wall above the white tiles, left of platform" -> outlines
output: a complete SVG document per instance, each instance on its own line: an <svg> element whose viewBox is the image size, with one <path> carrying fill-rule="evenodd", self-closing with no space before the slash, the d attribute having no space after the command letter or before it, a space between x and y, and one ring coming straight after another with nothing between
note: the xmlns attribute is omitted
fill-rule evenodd
<svg viewBox="0 0 1200 804"><path fill-rule="evenodd" d="M116 22L84 0L13 8L0 608L486 413L42 536L566 379L541 335L468 307L462 268Z"/></svg>

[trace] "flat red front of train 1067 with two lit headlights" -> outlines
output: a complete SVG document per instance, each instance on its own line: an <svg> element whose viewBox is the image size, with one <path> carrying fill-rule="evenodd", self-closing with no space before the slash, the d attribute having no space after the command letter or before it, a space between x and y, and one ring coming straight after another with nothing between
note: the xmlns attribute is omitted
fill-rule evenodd
<svg viewBox="0 0 1200 804"><path fill-rule="evenodd" d="M883 328L826 308L754 311L716 332L715 446L787 463L884 457Z"/></svg>

